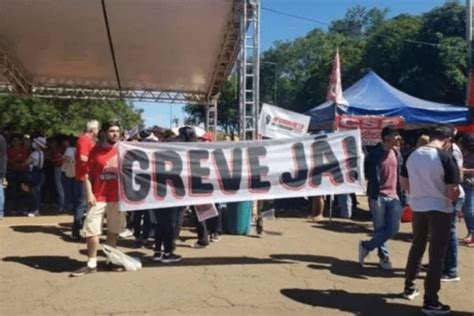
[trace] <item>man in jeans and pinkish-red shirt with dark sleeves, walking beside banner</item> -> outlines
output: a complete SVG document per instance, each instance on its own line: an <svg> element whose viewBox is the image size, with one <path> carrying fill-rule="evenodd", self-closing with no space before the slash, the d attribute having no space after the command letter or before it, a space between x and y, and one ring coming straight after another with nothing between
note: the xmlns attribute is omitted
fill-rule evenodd
<svg viewBox="0 0 474 316"><path fill-rule="evenodd" d="M372 213L374 235L372 239L359 242L359 263L370 251L377 249L379 266L391 270L388 249L385 245L400 228L401 204L398 196L399 175L402 166L400 153L395 149L400 134L393 125L382 130L382 142L373 149L365 160L365 177L369 208Z"/></svg>

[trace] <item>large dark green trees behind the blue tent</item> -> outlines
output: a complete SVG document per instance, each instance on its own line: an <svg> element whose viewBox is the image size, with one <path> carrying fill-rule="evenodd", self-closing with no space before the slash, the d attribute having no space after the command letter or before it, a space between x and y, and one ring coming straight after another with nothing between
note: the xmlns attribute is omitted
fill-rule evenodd
<svg viewBox="0 0 474 316"><path fill-rule="evenodd" d="M343 88L373 70L411 95L462 104L467 82L464 9L450 0L423 15L390 19L387 10L349 9L327 31L317 28L293 41L275 42L262 54L260 99L275 99L276 68L276 105L304 112L320 104L339 48Z"/></svg>

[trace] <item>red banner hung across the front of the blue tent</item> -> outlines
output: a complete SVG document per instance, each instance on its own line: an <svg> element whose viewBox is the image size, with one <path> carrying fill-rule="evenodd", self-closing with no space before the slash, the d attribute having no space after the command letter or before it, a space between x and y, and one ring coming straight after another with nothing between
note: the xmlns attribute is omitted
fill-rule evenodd
<svg viewBox="0 0 474 316"><path fill-rule="evenodd" d="M363 145L376 145L381 142L382 129L394 125L402 129L403 117L369 116L369 115L336 115L336 126L340 131L360 129Z"/></svg>

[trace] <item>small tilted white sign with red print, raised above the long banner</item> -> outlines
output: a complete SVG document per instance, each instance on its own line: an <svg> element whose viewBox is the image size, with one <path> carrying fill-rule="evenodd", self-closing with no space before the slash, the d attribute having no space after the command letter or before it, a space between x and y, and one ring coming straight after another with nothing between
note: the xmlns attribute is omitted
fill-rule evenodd
<svg viewBox="0 0 474 316"><path fill-rule="evenodd" d="M308 132L310 119L307 115L263 103L258 132L272 139L304 136Z"/></svg>

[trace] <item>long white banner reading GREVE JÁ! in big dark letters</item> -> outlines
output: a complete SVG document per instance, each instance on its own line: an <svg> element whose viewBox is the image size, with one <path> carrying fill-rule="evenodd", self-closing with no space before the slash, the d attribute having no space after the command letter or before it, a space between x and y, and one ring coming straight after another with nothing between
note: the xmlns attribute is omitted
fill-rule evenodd
<svg viewBox="0 0 474 316"><path fill-rule="evenodd" d="M360 132L216 143L120 142L122 211L361 193Z"/></svg>

